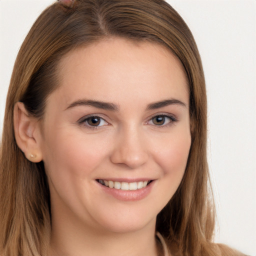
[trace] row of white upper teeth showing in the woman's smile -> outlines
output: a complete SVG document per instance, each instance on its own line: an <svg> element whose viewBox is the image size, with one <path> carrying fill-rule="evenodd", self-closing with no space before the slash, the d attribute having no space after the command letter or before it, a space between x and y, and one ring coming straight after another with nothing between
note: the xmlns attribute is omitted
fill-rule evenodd
<svg viewBox="0 0 256 256"><path fill-rule="evenodd" d="M98 183L109 188L121 190L137 190L146 187L152 180L138 181L138 182L120 182L105 179L96 179Z"/></svg>

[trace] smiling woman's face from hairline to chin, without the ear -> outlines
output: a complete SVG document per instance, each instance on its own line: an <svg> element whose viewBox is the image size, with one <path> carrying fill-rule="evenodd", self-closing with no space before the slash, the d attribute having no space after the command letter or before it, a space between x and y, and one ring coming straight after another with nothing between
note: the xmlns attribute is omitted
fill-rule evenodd
<svg viewBox="0 0 256 256"><path fill-rule="evenodd" d="M53 228L154 227L191 142L180 62L160 45L110 38L69 52L59 67L40 139Z"/></svg>

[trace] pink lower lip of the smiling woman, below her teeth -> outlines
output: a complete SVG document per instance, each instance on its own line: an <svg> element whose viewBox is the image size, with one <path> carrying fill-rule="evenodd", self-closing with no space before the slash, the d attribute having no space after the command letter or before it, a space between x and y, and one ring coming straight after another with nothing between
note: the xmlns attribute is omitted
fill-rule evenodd
<svg viewBox="0 0 256 256"><path fill-rule="evenodd" d="M105 193L112 195L118 200L137 201L145 198L149 194L154 184L154 181L155 180L151 181L147 186L137 190L122 190L122 189L110 188L108 186L104 186L98 183L97 181L96 182Z"/></svg>

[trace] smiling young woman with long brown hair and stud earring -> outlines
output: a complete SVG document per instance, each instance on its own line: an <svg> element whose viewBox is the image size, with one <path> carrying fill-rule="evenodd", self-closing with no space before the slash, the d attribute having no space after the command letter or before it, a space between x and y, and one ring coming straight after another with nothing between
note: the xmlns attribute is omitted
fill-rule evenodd
<svg viewBox="0 0 256 256"><path fill-rule="evenodd" d="M49 6L0 155L3 255L241 255L211 242L203 71L164 1Z"/></svg>

